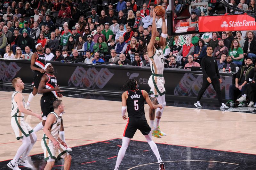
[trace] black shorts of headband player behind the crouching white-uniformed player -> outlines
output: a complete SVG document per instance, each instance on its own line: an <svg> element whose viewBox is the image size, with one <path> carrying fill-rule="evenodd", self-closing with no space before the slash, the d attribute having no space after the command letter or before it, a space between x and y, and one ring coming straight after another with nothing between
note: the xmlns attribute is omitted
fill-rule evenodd
<svg viewBox="0 0 256 170"><path fill-rule="evenodd" d="M58 100L57 98L49 98L49 97L41 97L40 103L41 103L41 110L42 110L42 118L44 116L47 117L47 115L54 111L53 109L53 102L55 100Z"/></svg>

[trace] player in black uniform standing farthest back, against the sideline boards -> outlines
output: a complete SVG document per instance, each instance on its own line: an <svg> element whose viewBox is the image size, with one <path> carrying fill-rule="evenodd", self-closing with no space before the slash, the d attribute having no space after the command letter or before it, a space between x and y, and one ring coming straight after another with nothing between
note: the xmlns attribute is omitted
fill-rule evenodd
<svg viewBox="0 0 256 170"><path fill-rule="evenodd" d="M30 68L34 70L34 78L33 78L33 92L31 92L28 96L27 101L27 109L30 110L30 103L33 100L34 96L37 94L38 85L45 73L45 56L43 53L43 47L40 43L36 44L36 52L31 56Z"/></svg>

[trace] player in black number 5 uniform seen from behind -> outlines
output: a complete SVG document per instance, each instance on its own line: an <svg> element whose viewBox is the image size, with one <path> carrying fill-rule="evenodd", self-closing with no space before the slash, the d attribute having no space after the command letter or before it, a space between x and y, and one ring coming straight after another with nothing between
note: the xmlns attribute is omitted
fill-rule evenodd
<svg viewBox="0 0 256 170"><path fill-rule="evenodd" d="M156 155L159 164L159 170L164 170L164 163L159 155L157 146L152 140L150 134L151 128L148 126L148 122L145 117L144 102L146 100L151 109L162 109L162 105L152 104L151 100L149 99L148 93L145 90L137 89L137 86L137 81L134 79L129 79L124 84L123 89L127 91L123 92L122 94L122 117L124 120L127 119L127 116L125 115L127 106L129 118L127 121L127 125L124 129L122 147L118 152L116 166L114 170L118 170L119 165L124 158L126 149L131 141L131 138L134 136L137 129L139 129L140 132L145 136L148 144L150 145L150 148Z"/></svg>

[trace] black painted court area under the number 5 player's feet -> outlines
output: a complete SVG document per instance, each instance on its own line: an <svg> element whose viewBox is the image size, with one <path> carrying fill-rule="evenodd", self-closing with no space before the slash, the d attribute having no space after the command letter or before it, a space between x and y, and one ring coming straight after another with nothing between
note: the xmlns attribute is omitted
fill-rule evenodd
<svg viewBox="0 0 256 170"><path fill-rule="evenodd" d="M71 170L113 170L122 139L113 139L73 147ZM256 155L224 152L195 147L157 144L166 170L227 170L256 169ZM31 156L34 169L42 170L46 162L44 155ZM0 162L0 169L8 169L9 161ZM63 169L63 161L57 161L54 170ZM27 168L20 167L25 170ZM147 142L130 142L119 170L158 170L154 153Z"/></svg>

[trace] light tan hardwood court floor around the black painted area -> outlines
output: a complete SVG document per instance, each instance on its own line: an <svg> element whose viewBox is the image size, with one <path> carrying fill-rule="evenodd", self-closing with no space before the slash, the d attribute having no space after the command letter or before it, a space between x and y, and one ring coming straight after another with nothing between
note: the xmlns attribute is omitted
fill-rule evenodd
<svg viewBox="0 0 256 170"><path fill-rule="evenodd" d="M12 159L21 145L10 123L11 95L12 92L0 92L0 161ZM27 101L29 94L23 95ZM41 112L40 98L41 95L36 95L31 104L31 110L36 113ZM62 100L69 147L122 138L126 121L121 117L121 102L71 97L63 97ZM149 121L148 105L145 105L145 112ZM256 154L255 114L167 106L161 120L161 129L167 136L153 137L156 143ZM32 128L39 123L31 116L26 116L26 121ZM37 132L38 141L31 155L43 152L42 136L43 130ZM146 141L140 131L133 139Z"/></svg>

